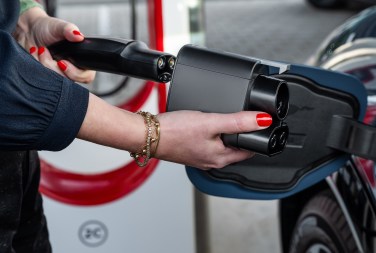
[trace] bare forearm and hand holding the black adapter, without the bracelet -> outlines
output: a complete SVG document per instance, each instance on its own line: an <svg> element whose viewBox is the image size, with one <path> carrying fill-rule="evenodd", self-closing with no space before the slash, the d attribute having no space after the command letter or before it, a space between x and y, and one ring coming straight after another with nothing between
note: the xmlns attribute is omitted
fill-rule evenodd
<svg viewBox="0 0 376 253"><path fill-rule="evenodd" d="M263 112L218 114L176 111L158 115L159 145L155 158L200 169L222 168L251 158L254 153L226 147L221 134L258 131L272 124ZM117 108L90 94L89 106L78 138L129 152L145 145L145 122L141 115Z"/></svg>

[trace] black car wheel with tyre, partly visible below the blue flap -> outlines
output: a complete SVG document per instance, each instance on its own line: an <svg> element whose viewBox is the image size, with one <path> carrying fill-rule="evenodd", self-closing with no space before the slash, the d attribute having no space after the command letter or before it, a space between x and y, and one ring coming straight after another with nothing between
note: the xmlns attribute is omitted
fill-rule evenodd
<svg viewBox="0 0 376 253"><path fill-rule="evenodd" d="M290 253L356 253L345 217L330 192L314 196L294 228Z"/></svg>

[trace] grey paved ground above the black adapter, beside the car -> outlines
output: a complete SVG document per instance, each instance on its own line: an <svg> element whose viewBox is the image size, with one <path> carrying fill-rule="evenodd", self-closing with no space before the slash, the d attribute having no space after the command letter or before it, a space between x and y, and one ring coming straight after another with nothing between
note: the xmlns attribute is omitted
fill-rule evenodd
<svg viewBox="0 0 376 253"><path fill-rule="evenodd" d="M354 11L324 11L304 0L208 1L209 47L302 63Z"/></svg>

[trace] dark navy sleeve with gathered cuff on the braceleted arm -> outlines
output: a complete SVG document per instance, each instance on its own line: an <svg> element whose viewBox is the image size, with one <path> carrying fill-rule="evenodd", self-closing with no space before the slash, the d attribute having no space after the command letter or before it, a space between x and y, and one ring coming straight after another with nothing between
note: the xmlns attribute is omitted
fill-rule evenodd
<svg viewBox="0 0 376 253"><path fill-rule="evenodd" d="M0 150L64 149L88 99L87 89L45 68L0 30Z"/></svg>

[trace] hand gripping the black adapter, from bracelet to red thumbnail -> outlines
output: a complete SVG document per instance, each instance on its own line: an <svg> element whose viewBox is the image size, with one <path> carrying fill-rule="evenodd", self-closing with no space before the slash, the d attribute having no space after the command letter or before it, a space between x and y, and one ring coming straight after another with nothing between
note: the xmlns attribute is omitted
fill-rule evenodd
<svg viewBox="0 0 376 253"><path fill-rule="evenodd" d="M254 153L226 147L221 134L265 129L272 123L262 112L232 114L177 111L158 115L161 137L155 157L200 169L218 169L251 158Z"/></svg>

